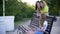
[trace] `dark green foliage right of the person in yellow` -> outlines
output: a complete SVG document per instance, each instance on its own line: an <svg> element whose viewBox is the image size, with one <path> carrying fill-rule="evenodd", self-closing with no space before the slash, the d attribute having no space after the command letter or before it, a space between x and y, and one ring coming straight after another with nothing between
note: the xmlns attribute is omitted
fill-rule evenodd
<svg viewBox="0 0 60 34"><path fill-rule="evenodd" d="M49 6L50 15L59 15L60 0L45 0Z"/></svg>

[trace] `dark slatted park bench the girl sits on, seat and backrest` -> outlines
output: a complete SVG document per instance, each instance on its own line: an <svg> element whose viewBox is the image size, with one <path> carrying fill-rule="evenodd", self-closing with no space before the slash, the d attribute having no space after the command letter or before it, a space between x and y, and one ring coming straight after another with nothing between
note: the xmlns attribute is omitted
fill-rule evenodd
<svg viewBox="0 0 60 34"><path fill-rule="evenodd" d="M57 18L56 18L56 17L51 17L51 16L46 16L46 17L47 17L47 21L48 21L48 27L47 27L47 29L46 29L46 32L47 32L47 33L44 32L44 34L50 34L51 29L52 29L53 22L56 21ZM29 27L32 27L32 25L34 25L34 26L36 26L36 27L39 27L37 23L33 23L33 22L38 22L38 20L35 20L35 19L36 19L36 16L33 15ZM35 20L35 21L34 21L34 20ZM19 30L19 31L22 31L23 34L26 34L26 31L28 31L28 30L27 30L24 26L22 26L22 25L18 27L18 30ZM21 34L21 32L20 32L20 34Z"/></svg>

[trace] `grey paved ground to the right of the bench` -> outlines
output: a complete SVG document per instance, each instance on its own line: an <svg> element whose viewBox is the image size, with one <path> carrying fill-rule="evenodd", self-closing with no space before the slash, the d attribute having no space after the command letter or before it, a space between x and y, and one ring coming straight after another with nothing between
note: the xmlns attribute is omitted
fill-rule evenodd
<svg viewBox="0 0 60 34"><path fill-rule="evenodd" d="M60 17L57 17L57 21L53 23L51 34L60 34Z"/></svg>

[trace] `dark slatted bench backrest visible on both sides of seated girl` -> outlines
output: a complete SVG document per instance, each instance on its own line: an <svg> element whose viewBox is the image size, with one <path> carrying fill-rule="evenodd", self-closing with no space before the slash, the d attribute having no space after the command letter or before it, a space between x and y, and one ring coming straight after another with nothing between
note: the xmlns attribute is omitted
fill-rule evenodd
<svg viewBox="0 0 60 34"><path fill-rule="evenodd" d="M47 17L47 21L48 21L48 27L47 27L46 31L50 34L51 29L52 29L52 25L53 25L53 22L54 22L55 18L51 17L51 16L46 16L46 17ZM39 24L36 23L38 21L39 21L39 19L36 18L35 15L33 15L32 19L31 19L30 27L32 27L32 25L39 27Z"/></svg>

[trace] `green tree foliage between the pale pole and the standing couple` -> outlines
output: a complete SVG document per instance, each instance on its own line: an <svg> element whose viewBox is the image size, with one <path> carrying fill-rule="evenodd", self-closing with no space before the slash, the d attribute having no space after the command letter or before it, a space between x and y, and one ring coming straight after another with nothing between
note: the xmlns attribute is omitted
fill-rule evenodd
<svg viewBox="0 0 60 34"><path fill-rule="evenodd" d="M35 12L34 8L25 2L18 2L17 0L6 1L6 16L15 16L15 21L22 18L30 18L33 12Z"/></svg>

